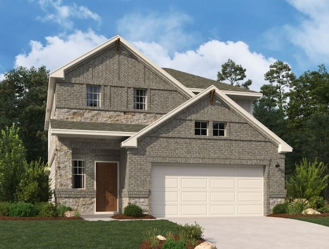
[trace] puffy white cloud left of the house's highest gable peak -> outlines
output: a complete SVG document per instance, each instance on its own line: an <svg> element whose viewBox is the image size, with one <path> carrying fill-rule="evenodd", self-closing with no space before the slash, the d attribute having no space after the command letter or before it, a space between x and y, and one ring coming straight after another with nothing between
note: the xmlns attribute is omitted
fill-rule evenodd
<svg viewBox="0 0 329 249"><path fill-rule="evenodd" d="M46 66L53 71L69 63L106 40L103 35L94 31L76 31L66 38L60 36L46 37L46 44L40 41L30 41L31 51L15 57L15 66L40 67Z"/></svg>

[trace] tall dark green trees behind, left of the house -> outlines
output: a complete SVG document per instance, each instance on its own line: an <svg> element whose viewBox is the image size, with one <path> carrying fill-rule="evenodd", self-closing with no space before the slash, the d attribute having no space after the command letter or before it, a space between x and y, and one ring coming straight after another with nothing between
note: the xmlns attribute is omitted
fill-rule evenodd
<svg viewBox="0 0 329 249"><path fill-rule="evenodd" d="M17 67L0 81L0 129L15 123L27 149L28 161L47 160L47 135L44 118L48 87L48 70Z"/></svg>

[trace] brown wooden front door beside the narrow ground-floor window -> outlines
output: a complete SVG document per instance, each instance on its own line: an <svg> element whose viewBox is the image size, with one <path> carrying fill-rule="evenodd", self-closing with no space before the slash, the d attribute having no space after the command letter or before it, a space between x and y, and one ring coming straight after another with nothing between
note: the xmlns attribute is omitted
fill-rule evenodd
<svg viewBox="0 0 329 249"><path fill-rule="evenodd" d="M96 212L118 211L118 164L96 162Z"/></svg>

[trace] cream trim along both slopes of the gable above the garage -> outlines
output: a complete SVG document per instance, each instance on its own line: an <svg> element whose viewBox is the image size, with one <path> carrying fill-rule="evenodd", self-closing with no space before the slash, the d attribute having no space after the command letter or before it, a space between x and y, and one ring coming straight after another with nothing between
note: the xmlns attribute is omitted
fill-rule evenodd
<svg viewBox="0 0 329 249"><path fill-rule="evenodd" d="M203 92L195 95L193 98L187 100L185 103L182 103L179 107L175 108L171 112L167 113L166 115L162 116L155 122L151 123L148 127L145 127L135 135L127 138L123 142L121 142L121 147L123 148L137 148L138 139L147 134L148 132L152 131L156 127L160 126L163 122L167 121L174 115L178 114L182 110L185 110L189 106L191 106L194 102L199 100L200 98L204 97L205 95L209 94L212 90L215 90L216 96L221 98L224 102L227 103L231 108L233 108L236 112L241 114L245 119L251 122L255 127L259 128L262 132L264 132L273 142L275 142L278 146L278 153L287 153L293 151L293 148L289 146L285 141L283 141L280 137L278 137L275 133L269 130L267 127L264 126L260 121L254 118L250 113L245 111L242 107L237 105L231 98L226 96L221 90L216 88L215 86L210 86Z"/></svg>

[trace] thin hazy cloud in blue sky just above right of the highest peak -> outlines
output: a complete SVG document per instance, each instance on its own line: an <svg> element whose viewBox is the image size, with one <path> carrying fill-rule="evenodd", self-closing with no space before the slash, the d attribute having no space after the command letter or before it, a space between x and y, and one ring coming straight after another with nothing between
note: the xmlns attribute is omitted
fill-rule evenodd
<svg viewBox="0 0 329 249"><path fill-rule="evenodd" d="M193 44L196 35L187 33L185 26L192 18L181 12L132 13L118 20L118 31L127 40L157 43L170 52Z"/></svg>

